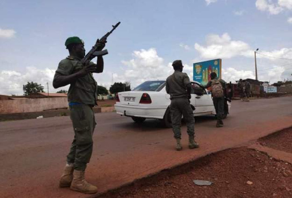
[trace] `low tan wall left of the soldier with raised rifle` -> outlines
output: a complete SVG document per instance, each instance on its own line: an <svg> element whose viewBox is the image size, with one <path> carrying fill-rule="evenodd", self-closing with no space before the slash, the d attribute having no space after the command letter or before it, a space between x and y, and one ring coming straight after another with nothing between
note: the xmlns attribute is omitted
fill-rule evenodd
<svg viewBox="0 0 292 198"><path fill-rule="evenodd" d="M0 114L39 112L68 107L67 98L0 100Z"/></svg>

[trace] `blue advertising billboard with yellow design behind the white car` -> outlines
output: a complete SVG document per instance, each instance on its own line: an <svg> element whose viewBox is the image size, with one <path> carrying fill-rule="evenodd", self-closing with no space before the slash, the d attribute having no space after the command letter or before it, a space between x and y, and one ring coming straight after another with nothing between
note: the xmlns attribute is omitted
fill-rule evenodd
<svg viewBox="0 0 292 198"><path fill-rule="evenodd" d="M221 59L196 62L193 67L193 80L200 82L202 85L206 85L211 80L210 74L212 72L215 72L219 79L221 78Z"/></svg>

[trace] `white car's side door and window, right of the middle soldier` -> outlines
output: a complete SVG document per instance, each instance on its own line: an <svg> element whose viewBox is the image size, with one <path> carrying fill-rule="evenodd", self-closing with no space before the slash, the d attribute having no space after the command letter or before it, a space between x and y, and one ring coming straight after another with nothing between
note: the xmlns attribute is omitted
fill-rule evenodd
<svg viewBox="0 0 292 198"><path fill-rule="evenodd" d="M195 114L212 112L214 109L211 96L207 94L206 90L201 88L196 82L192 82L193 95L192 99L195 101Z"/></svg>

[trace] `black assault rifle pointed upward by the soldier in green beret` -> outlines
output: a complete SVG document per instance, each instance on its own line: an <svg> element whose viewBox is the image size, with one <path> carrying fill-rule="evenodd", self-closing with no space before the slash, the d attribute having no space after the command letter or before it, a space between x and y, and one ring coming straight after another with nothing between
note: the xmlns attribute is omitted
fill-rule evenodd
<svg viewBox="0 0 292 198"><path fill-rule="evenodd" d="M107 34L105 34L101 39L98 39L96 40L95 42L95 45L91 48L91 50L85 55L85 57L83 59L80 60L80 62L83 64L83 65L87 65L89 64L89 62L97 57L97 56L104 56L104 55L107 55L109 54L108 50L102 50L102 51L99 51L98 50L98 43L102 40L106 40L110 34L118 27L118 25L120 24L121 22L118 22L117 24L115 25L112 25L112 30L110 30L110 32L108 32Z"/></svg>

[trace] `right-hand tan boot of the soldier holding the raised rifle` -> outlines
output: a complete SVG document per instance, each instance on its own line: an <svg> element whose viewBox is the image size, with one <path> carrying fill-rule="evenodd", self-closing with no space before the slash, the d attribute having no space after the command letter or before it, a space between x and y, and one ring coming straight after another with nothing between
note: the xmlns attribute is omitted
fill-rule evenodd
<svg viewBox="0 0 292 198"><path fill-rule="evenodd" d="M73 181L71 183L70 189L86 194L97 193L97 187L93 186L85 180L85 171L74 170Z"/></svg>

